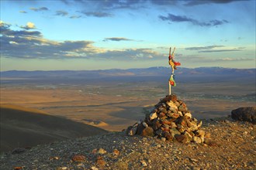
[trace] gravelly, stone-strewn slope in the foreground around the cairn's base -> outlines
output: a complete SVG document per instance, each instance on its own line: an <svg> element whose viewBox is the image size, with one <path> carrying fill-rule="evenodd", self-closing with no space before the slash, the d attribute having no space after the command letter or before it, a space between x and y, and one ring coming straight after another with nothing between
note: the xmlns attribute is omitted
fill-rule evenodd
<svg viewBox="0 0 256 170"><path fill-rule="evenodd" d="M230 117L202 121L215 145L182 144L112 132L17 148L1 169L256 169L255 125Z"/></svg>

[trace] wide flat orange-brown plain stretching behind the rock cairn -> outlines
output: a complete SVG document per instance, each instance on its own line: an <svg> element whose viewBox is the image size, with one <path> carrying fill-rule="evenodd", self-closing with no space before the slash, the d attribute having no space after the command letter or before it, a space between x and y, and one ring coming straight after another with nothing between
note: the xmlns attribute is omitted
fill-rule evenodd
<svg viewBox="0 0 256 170"><path fill-rule="evenodd" d="M180 81L172 93L185 101L198 119L223 117L237 107L255 106L254 80ZM2 78L1 104L42 110L50 115L121 131L144 119L145 113L168 94L168 80L148 77L81 80Z"/></svg>

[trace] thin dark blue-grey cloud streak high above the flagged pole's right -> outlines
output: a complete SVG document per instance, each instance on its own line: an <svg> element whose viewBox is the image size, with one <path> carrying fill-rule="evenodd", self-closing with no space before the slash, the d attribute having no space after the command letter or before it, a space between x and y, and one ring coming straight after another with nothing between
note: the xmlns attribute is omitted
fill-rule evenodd
<svg viewBox="0 0 256 170"><path fill-rule="evenodd" d="M209 22L199 22L196 19L189 18L185 15L173 15L171 13L168 13L167 16L164 15L159 15L159 19L163 21L168 21L168 22L190 22L195 26L220 26L225 23L228 23L227 20L210 20Z"/></svg>

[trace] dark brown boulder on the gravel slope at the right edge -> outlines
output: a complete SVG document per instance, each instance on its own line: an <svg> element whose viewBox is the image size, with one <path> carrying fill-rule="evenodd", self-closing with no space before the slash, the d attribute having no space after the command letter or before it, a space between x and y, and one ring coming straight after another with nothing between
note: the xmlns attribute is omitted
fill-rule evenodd
<svg viewBox="0 0 256 170"><path fill-rule="evenodd" d="M236 121L248 121L256 124L256 107L240 107L231 111L231 117Z"/></svg>

